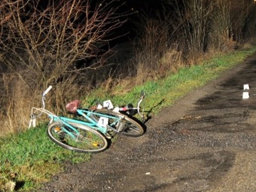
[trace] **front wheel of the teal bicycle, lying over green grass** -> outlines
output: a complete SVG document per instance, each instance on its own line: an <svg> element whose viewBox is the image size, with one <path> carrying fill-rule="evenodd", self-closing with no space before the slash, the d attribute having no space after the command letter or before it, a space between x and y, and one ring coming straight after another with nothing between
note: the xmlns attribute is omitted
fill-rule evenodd
<svg viewBox="0 0 256 192"><path fill-rule="evenodd" d="M63 128L72 132L70 127L61 122L54 122L48 126L47 134L49 138L59 146L80 153L99 153L108 147L106 138L96 130L79 123L69 123L79 131L76 139L69 136Z"/></svg>

